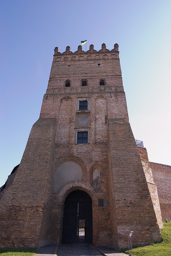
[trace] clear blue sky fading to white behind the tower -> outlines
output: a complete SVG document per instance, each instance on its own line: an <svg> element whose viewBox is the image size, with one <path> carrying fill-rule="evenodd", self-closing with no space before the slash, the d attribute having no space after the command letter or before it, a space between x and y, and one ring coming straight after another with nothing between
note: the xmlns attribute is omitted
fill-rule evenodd
<svg viewBox="0 0 171 256"><path fill-rule="evenodd" d="M171 165L170 0L0 0L0 186L40 114L54 48L119 44L134 137ZM85 45L83 45L85 50Z"/></svg>

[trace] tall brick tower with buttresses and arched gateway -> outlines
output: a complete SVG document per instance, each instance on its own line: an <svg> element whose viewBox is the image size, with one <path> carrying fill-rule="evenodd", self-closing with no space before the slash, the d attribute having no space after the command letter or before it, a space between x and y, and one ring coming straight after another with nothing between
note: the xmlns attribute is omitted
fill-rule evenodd
<svg viewBox="0 0 171 256"><path fill-rule="evenodd" d="M40 118L13 174L0 200L1 246L78 242L81 226L85 242L116 249L128 247L130 231L134 245L161 239L118 44L55 48Z"/></svg>

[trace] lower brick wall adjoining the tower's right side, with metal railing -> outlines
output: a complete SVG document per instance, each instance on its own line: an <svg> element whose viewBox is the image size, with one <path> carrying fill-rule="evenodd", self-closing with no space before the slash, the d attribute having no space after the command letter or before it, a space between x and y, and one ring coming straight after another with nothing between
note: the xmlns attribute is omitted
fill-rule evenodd
<svg viewBox="0 0 171 256"><path fill-rule="evenodd" d="M146 148L138 146L159 227L171 219L171 166L149 162Z"/></svg>

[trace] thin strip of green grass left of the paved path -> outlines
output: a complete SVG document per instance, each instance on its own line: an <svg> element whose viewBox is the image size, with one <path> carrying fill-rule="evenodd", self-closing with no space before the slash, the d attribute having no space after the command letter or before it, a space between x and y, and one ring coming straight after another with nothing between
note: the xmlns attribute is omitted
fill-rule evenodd
<svg viewBox="0 0 171 256"><path fill-rule="evenodd" d="M37 248L0 248L0 256L33 256Z"/></svg>

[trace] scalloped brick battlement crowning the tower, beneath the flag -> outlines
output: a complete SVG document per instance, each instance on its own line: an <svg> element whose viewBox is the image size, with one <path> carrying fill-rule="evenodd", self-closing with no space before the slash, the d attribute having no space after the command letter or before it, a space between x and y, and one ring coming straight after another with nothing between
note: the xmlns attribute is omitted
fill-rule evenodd
<svg viewBox="0 0 171 256"><path fill-rule="evenodd" d="M102 59L106 59L106 58L114 59L114 58L119 58L118 48L119 48L118 44L114 44L114 49L108 50L108 49L106 49L106 44L103 43L102 44L102 49L97 51L97 50L94 50L94 45L90 44L89 50L86 51L86 52L82 50L82 46L81 45L78 46L78 50L76 52L71 52L70 46L67 46L66 47L66 51L61 53L61 52L59 52L59 48L55 47L55 49L54 49L54 51L55 51L54 59L55 59L55 61L60 61L60 60L76 60L76 58L77 59L79 58L77 56L77 54L85 54L85 58L82 55L81 58L79 58L79 60L84 60L84 59L88 59L88 60L95 59L95 60L98 60L98 59L101 59L101 58ZM105 55L102 55L100 57L100 55L104 54L104 53L105 53ZM71 55L71 54L75 55L75 57L73 56L73 57L71 57L71 59L69 57L63 57L63 59L61 58L63 55ZM89 54L93 54L93 55L89 55ZM108 54L110 54L110 57L109 57Z"/></svg>

